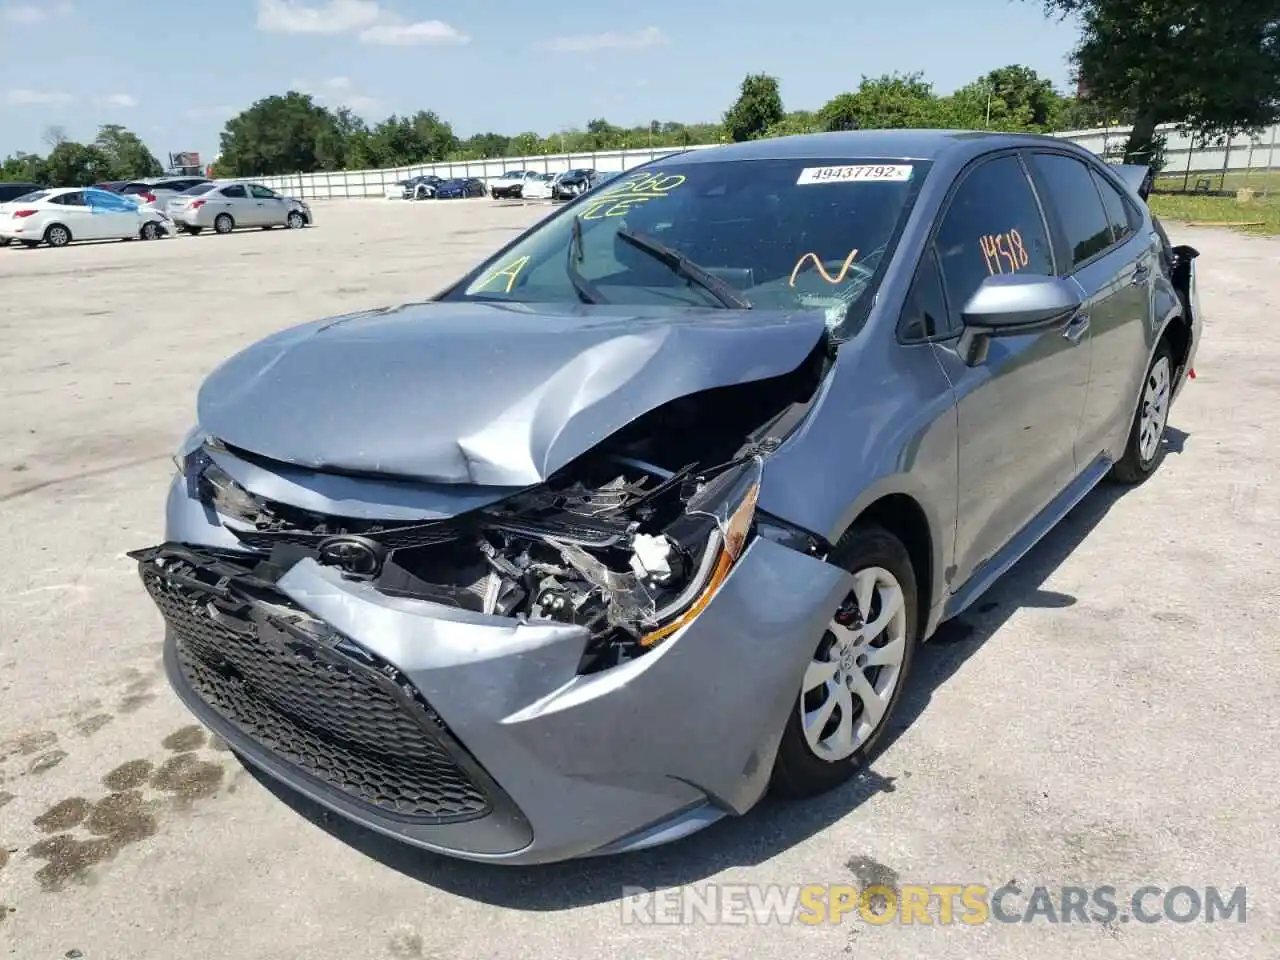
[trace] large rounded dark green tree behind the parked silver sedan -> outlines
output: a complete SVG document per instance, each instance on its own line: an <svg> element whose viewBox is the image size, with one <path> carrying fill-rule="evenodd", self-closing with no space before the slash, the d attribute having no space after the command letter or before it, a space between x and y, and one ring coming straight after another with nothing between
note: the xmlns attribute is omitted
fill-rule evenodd
<svg viewBox="0 0 1280 960"><path fill-rule="evenodd" d="M306 93L265 97L228 120L218 169L233 177L325 169L334 125L334 115Z"/></svg>

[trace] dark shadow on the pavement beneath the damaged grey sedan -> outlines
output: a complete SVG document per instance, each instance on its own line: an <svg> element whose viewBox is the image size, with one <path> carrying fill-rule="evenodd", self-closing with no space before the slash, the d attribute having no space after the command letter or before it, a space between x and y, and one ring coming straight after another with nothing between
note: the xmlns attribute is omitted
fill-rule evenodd
<svg viewBox="0 0 1280 960"><path fill-rule="evenodd" d="M1188 435L1169 430L1166 449L1180 453ZM1019 609L1055 609L1076 598L1043 589L1043 584L1102 521L1125 488L1103 484L1009 571L964 617L945 623L922 648L893 723L879 749L890 746L928 708L941 687ZM669 846L613 858L575 860L547 867L492 867L436 856L388 840L329 814L289 787L250 773L296 813L330 836L407 877L480 902L518 910L566 910L620 899L623 887L649 890L698 883L724 869L753 865L803 844L852 814L876 794L895 791L892 777L874 771L874 760L844 787L805 803L767 797L745 817L736 817ZM856 856L859 851L850 851Z"/></svg>

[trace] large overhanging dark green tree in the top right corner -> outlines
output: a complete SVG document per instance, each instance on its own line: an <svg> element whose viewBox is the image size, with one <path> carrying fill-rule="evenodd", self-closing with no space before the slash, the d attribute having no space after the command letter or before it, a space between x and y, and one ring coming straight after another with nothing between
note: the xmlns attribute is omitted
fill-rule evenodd
<svg viewBox="0 0 1280 960"><path fill-rule="evenodd" d="M1132 108L1126 163L1158 148L1156 128L1201 136L1280 119L1280 0L1042 0L1080 18L1074 60L1100 108Z"/></svg>

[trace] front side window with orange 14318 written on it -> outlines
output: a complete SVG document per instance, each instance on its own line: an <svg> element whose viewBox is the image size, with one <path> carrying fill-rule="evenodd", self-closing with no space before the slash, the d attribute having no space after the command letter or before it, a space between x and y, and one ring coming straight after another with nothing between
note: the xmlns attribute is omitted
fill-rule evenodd
<svg viewBox="0 0 1280 960"><path fill-rule="evenodd" d="M952 195L934 238L951 324L988 276L1052 276L1053 248L1027 173L1015 156L987 160Z"/></svg>

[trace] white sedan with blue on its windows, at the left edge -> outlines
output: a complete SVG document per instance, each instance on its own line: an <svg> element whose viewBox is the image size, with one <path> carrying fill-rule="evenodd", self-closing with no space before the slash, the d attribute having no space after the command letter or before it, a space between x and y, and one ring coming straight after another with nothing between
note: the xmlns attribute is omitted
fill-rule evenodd
<svg viewBox="0 0 1280 960"><path fill-rule="evenodd" d="M173 221L159 210L93 187L56 187L27 193L0 216L0 244L65 247L91 239L159 239Z"/></svg>

